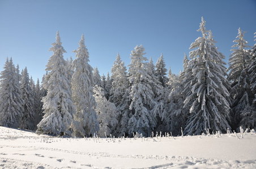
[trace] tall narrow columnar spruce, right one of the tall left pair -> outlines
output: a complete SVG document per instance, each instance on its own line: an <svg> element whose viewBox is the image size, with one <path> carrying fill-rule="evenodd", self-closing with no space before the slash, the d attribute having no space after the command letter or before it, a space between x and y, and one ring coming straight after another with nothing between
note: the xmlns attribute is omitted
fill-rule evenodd
<svg viewBox="0 0 256 169"><path fill-rule="evenodd" d="M74 115L74 135L90 136L99 131L99 122L95 112L96 102L93 97L92 67L89 65L89 53L84 45L84 36L79 47L74 51L76 59L72 68L74 73L71 80L72 99L76 108Z"/></svg>

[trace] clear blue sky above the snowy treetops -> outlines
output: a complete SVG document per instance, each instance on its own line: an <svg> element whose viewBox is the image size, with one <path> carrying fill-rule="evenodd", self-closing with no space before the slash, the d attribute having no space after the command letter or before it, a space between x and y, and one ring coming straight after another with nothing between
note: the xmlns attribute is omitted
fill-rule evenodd
<svg viewBox="0 0 256 169"><path fill-rule="evenodd" d="M90 64L100 74L110 72L117 52L125 64L130 52L143 45L154 63L161 53L173 73L182 69L184 53L200 33L201 16L212 30L216 46L231 54L237 29L254 45L256 1L7 1L0 0L0 71L6 57L20 69L25 66L33 79L45 73L49 51L59 30L65 58L75 54L82 34L86 38Z"/></svg>

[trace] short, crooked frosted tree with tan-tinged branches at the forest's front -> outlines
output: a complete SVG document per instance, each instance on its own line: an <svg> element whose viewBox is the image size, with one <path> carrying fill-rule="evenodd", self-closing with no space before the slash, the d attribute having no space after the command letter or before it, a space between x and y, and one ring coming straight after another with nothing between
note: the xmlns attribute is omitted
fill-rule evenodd
<svg viewBox="0 0 256 169"><path fill-rule="evenodd" d="M106 100L104 88L98 85L93 87L93 96L97 103L95 111L100 125L98 135L100 137L110 136L117 124L116 106Z"/></svg>

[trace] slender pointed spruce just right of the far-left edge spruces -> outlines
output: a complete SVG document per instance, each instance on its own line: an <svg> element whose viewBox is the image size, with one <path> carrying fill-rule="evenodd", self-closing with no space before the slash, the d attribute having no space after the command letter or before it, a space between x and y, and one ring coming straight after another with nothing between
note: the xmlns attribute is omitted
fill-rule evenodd
<svg viewBox="0 0 256 169"><path fill-rule="evenodd" d="M34 130L35 129L35 114L33 107L33 94L32 88L29 84L29 76L27 67L22 71L20 89L22 91L23 99L23 118L20 122L20 128Z"/></svg>

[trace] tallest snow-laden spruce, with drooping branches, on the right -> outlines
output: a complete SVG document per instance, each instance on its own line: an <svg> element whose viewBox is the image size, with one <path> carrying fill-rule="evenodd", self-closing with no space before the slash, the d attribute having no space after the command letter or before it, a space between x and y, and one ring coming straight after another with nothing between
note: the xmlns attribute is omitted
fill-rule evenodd
<svg viewBox="0 0 256 169"><path fill-rule="evenodd" d="M184 130L188 135L200 135L207 128L210 131L226 131L229 127L229 92L225 79L226 69L223 55L217 51L211 33L205 28L202 17L199 37L191 43L190 51L193 76L191 77L191 95L186 97L185 106L189 105L190 115ZM207 37L208 33L208 37Z"/></svg>

